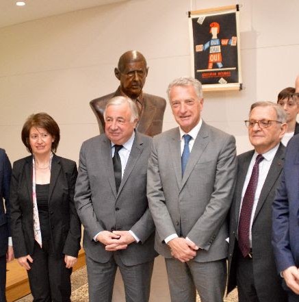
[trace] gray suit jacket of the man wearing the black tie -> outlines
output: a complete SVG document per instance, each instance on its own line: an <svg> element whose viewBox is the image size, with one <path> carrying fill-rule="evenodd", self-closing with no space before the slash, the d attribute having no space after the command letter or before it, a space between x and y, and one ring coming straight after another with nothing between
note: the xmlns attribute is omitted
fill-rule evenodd
<svg viewBox="0 0 299 302"><path fill-rule="evenodd" d="M84 227L83 247L86 255L105 263L118 253L125 265L153 260L155 225L146 198L146 168L151 138L135 132L118 193L114 179L111 142L101 134L83 142L80 151L79 175L75 188L75 205ZM129 244L122 251L105 251L105 245L94 242L99 231L131 229L140 242Z"/></svg>

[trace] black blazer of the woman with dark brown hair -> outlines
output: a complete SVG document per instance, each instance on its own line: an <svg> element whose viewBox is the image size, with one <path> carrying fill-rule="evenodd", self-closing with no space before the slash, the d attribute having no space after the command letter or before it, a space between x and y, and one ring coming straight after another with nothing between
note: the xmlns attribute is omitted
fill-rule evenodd
<svg viewBox="0 0 299 302"><path fill-rule="evenodd" d="M53 251L77 257L81 223L75 210L77 166L72 160L53 155L49 188L49 221ZM16 258L34 252L32 201L32 155L14 162L10 184L12 243Z"/></svg>

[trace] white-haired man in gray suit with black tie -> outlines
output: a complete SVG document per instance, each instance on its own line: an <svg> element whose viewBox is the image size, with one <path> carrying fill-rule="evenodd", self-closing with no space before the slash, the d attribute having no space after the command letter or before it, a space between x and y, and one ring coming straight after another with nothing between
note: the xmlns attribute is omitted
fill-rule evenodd
<svg viewBox="0 0 299 302"><path fill-rule="evenodd" d="M147 302L157 255L146 198L152 139L134 131L138 111L131 99L114 97L104 116L105 134L82 144L75 188L90 301L112 301L118 267L126 301Z"/></svg>

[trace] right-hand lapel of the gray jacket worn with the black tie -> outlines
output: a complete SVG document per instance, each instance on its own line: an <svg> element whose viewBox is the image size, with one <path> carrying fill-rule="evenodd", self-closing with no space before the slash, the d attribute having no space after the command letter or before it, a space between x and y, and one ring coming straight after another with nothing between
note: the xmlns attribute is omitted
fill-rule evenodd
<svg viewBox="0 0 299 302"><path fill-rule="evenodd" d="M131 174L131 172L133 171L133 168L136 164L136 162L138 162L138 158L140 158L140 154L143 151L143 142L140 138L140 136L138 135L138 132L135 131L135 139L134 142L132 144L132 149L128 158L128 162L124 171L124 175L122 176L122 181L120 182L120 187L118 188L118 194L120 194L123 186L125 186L125 183L127 182L127 179L129 178L129 175Z"/></svg>

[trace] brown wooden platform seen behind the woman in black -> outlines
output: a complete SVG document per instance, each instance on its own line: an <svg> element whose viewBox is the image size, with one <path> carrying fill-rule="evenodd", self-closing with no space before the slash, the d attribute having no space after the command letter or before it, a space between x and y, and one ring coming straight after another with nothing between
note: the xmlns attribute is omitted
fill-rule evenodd
<svg viewBox="0 0 299 302"><path fill-rule="evenodd" d="M85 265L85 253L81 249L74 270L83 265ZM6 298L8 302L16 301L30 293L27 271L16 260L8 263L6 276Z"/></svg>

